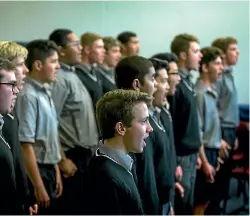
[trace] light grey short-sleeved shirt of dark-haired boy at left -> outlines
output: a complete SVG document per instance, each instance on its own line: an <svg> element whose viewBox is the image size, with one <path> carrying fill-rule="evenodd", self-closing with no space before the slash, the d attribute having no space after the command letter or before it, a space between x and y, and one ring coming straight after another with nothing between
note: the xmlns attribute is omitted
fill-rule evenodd
<svg viewBox="0 0 250 216"><path fill-rule="evenodd" d="M58 121L54 103L46 84L26 77L16 101L19 140L33 145L41 164L57 164L61 160Z"/></svg>

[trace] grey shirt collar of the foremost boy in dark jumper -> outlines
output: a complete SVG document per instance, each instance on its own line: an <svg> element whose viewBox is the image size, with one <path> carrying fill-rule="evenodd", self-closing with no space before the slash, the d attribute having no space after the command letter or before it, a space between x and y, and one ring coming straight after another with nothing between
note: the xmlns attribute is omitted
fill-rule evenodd
<svg viewBox="0 0 250 216"><path fill-rule="evenodd" d="M111 148L103 144L102 141L100 141L99 151L101 154L105 154L106 156L114 160L116 163L123 166L127 171L131 171L133 159L128 154L125 154L115 148Z"/></svg>

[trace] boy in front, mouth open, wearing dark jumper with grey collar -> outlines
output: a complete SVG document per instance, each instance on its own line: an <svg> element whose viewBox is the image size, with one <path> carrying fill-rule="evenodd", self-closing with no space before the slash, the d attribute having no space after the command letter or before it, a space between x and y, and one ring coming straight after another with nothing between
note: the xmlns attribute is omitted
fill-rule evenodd
<svg viewBox="0 0 250 216"><path fill-rule="evenodd" d="M133 90L113 90L99 99L96 117L103 140L86 170L83 214L143 214L128 153L141 153L146 145L150 103L148 94Z"/></svg>

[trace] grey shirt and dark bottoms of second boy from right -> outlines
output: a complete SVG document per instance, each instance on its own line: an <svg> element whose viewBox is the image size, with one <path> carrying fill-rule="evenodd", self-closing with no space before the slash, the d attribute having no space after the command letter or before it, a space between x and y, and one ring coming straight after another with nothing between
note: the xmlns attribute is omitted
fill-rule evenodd
<svg viewBox="0 0 250 216"><path fill-rule="evenodd" d="M218 165L218 150L221 146L220 120L217 110L218 95L213 86L208 87L201 80L197 81L195 92L200 137L207 160L216 169ZM214 183L207 182L202 170L197 171L195 204L206 204L208 201L211 201L216 192Z"/></svg>

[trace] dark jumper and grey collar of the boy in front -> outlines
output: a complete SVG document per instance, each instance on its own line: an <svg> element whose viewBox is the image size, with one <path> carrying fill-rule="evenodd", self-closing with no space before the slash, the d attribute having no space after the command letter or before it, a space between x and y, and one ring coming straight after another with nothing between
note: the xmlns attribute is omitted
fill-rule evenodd
<svg viewBox="0 0 250 216"><path fill-rule="evenodd" d="M101 143L83 180L82 214L142 215L143 207L127 154Z"/></svg>

